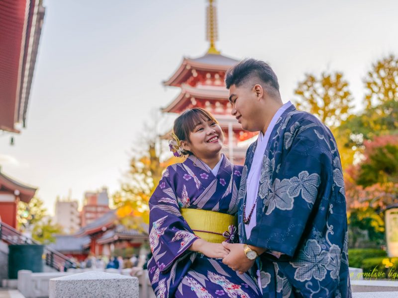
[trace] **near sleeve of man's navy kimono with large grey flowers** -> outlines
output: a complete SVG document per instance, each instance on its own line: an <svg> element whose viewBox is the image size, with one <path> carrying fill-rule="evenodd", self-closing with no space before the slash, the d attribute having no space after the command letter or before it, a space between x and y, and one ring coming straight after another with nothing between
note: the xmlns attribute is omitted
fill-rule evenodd
<svg viewBox="0 0 398 298"><path fill-rule="evenodd" d="M270 176L273 179L261 177L265 183L260 183L258 200L263 200L264 209L247 243L289 258L295 254L304 229L311 225L314 204L319 204L316 199L322 195L323 163L329 159L330 150L313 129L305 130L292 142L285 138L284 147L281 162Z"/></svg>

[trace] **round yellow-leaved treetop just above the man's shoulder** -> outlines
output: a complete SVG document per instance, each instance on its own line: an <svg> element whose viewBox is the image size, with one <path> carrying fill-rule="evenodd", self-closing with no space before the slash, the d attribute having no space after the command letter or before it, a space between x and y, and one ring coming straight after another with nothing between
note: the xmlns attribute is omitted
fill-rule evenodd
<svg viewBox="0 0 398 298"><path fill-rule="evenodd" d="M295 94L297 108L310 112L330 128L335 128L350 115L353 97L348 82L340 72L323 72L320 77L305 74Z"/></svg>

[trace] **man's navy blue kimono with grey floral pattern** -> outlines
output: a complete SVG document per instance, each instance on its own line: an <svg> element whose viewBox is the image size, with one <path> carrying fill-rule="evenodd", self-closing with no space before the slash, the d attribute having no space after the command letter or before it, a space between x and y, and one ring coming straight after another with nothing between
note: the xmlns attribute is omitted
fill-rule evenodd
<svg viewBox="0 0 398 298"><path fill-rule="evenodd" d="M351 297L344 180L336 141L313 115L290 106L264 153L256 226L242 219L250 145L238 193L241 243L283 253L257 258L264 298Z"/></svg>

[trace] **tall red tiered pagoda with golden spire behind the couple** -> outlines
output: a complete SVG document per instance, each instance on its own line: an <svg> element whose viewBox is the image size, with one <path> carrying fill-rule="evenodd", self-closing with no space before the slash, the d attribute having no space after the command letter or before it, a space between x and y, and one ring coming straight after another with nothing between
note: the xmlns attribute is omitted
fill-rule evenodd
<svg viewBox="0 0 398 298"><path fill-rule="evenodd" d="M215 47L217 40L216 7L213 0L207 6L207 53L199 58L184 58L177 71L166 81L165 86L181 88L180 94L163 112L180 114L186 109L200 107L219 122L224 132L222 152L235 164L243 164L247 146L244 141L256 134L244 131L231 115L229 92L225 87L225 72L239 61L221 55Z"/></svg>

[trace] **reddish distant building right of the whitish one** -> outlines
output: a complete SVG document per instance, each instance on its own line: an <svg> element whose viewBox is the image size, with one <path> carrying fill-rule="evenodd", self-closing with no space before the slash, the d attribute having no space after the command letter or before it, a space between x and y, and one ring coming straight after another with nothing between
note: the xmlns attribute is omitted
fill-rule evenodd
<svg viewBox="0 0 398 298"><path fill-rule="evenodd" d="M109 211L109 197L106 187L100 192L86 192L81 213L82 227L93 223Z"/></svg>

